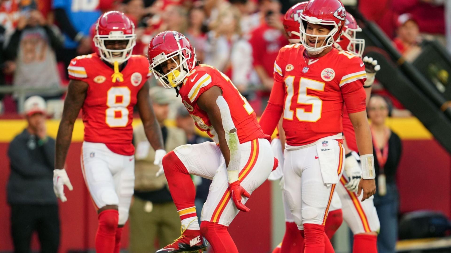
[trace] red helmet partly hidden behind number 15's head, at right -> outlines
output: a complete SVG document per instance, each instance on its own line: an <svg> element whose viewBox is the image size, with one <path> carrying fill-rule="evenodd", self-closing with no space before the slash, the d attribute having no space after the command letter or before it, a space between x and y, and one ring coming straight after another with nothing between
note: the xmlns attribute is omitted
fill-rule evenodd
<svg viewBox="0 0 451 253"><path fill-rule="evenodd" d="M357 39L355 37L357 32L362 32L362 28L359 27L355 18L350 13L347 13L343 34L341 34L334 46L339 50L350 51L362 58L362 53L365 49L365 40Z"/></svg>

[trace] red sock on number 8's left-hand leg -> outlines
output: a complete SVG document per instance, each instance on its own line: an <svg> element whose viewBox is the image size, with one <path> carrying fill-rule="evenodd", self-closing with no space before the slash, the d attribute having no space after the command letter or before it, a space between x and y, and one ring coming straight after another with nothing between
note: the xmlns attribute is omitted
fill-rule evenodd
<svg viewBox="0 0 451 253"><path fill-rule="evenodd" d="M96 253L111 253L115 250L119 212L114 209L107 209L100 212L98 218Z"/></svg>

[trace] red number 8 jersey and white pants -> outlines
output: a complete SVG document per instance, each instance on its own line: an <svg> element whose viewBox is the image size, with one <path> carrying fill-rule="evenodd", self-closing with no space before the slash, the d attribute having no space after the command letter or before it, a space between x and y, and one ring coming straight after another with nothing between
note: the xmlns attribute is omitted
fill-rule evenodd
<svg viewBox="0 0 451 253"><path fill-rule="evenodd" d="M143 56L123 64L120 77L97 53L78 56L68 67L70 79L88 84L82 107L83 176L97 208L119 206L119 224L127 221L134 188L133 107L149 76Z"/></svg>

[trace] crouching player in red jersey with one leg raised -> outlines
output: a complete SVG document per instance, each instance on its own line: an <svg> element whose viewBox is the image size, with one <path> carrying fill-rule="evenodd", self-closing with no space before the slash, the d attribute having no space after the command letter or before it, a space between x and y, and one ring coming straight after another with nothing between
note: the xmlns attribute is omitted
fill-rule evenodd
<svg viewBox="0 0 451 253"><path fill-rule="evenodd" d="M182 223L182 235L157 252L238 253L227 227L253 190L269 176L276 159L253 108L229 77L199 65L188 39L179 32L157 34L148 49L150 69L166 88L175 88L195 125L214 142L182 145L163 158L169 190ZM189 174L212 179L198 224L195 189Z"/></svg>

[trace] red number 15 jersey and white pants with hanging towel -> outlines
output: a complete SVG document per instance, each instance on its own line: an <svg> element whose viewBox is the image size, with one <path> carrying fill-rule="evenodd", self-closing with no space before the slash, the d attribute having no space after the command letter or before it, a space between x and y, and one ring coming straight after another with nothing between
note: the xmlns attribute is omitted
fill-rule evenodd
<svg viewBox="0 0 451 253"><path fill-rule="evenodd" d="M348 113L365 110L366 74L362 60L349 52L332 49L317 59L304 53L301 44L281 48L269 104L283 108L284 194L293 218L298 226L324 225L343 172L344 104ZM265 133L274 130L270 121L265 115L260 120Z"/></svg>

